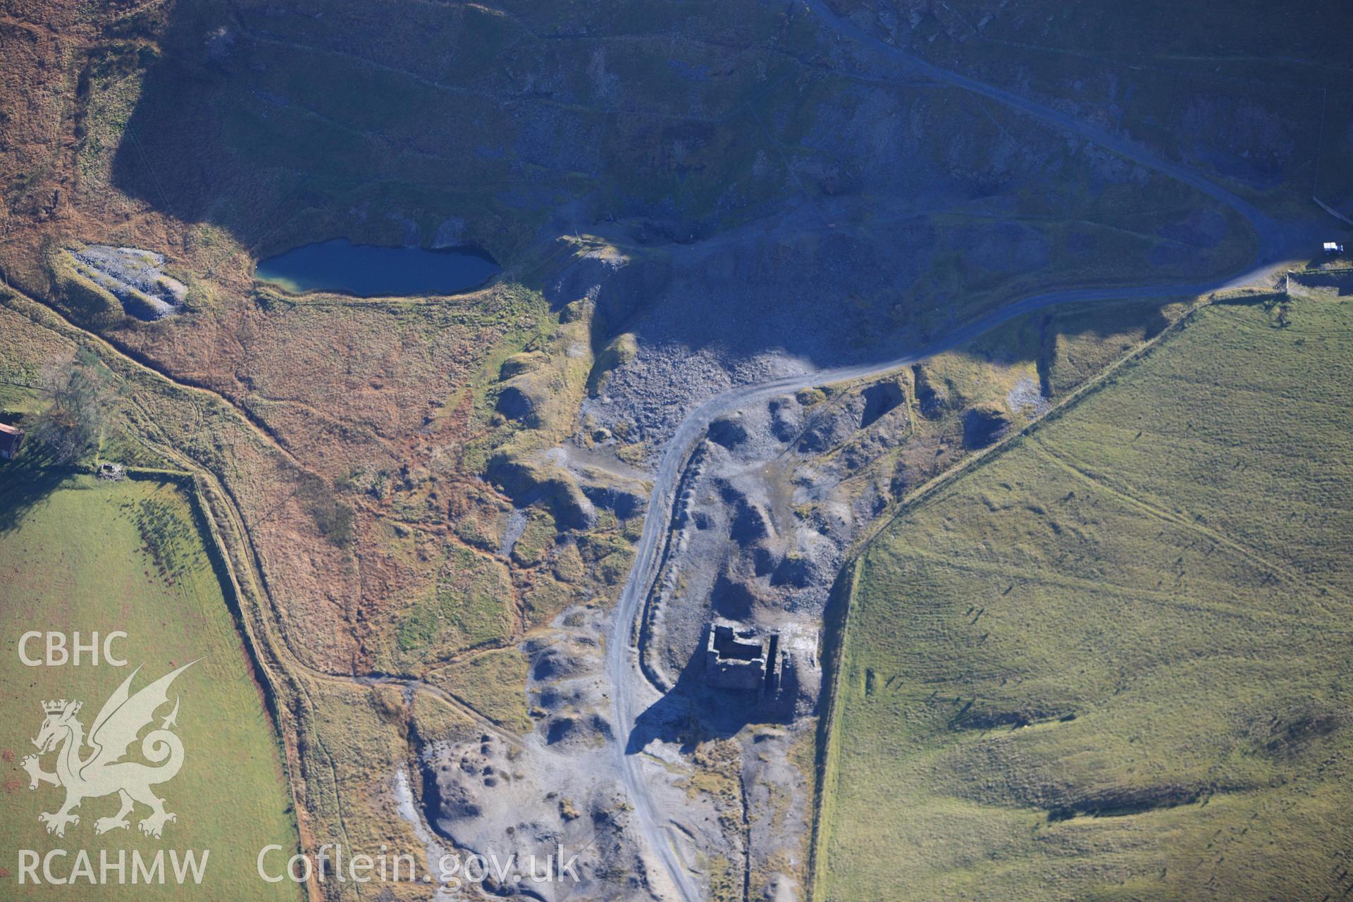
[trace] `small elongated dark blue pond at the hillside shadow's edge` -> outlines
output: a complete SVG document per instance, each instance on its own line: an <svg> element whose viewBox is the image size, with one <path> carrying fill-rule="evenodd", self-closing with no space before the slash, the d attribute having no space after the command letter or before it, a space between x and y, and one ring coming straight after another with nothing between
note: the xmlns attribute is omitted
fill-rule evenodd
<svg viewBox="0 0 1353 902"><path fill-rule="evenodd" d="M254 277L295 293L391 298L455 295L483 285L501 270L492 257L472 247L380 247L338 238L269 257L258 264Z"/></svg>

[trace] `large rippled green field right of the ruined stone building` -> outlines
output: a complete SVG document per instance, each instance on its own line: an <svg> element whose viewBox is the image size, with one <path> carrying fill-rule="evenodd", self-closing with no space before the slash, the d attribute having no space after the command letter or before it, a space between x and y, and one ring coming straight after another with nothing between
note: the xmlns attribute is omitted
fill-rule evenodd
<svg viewBox="0 0 1353 902"><path fill-rule="evenodd" d="M823 899L1353 886L1353 307L1212 306L859 561Z"/></svg>

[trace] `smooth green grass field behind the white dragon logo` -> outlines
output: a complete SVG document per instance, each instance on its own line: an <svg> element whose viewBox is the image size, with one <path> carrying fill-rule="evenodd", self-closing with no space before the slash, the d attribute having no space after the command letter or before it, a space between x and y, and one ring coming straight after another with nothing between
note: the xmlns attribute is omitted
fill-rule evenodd
<svg viewBox="0 0 1353 902"><path fill-rule="evenodd" d="M0 468L0 898L49 898L65 891L72 898L99 899L298 899L294 884L268 884L256 874L262 847L296 848L296 825L275 732L192 525L188 499L172 484L150 481L73 476L41 484L22 461ZM129 665L22 664L19 637L49 629L78 629L85 637L95 630L124 630L129 638L115 650ZM30 656L39 649L41 644L30 644ZM145 837L137 821L147 809L138 807L130 829L95 836L95 820L116 813L118 799L110 795L85 799L76 810L80 824L62 838L49 836L38 813L57 810L64 791L47 784L30 791L20 768L35 751L31 740L42 725L41 703L83 701L78 719L88 729L138 664L143 669L133 691L193 659L202 660L170 687L170 699L181 698L176 733L184 765L175 779L154 787L177 822L165 825L161 840ZM168 713L168 706L158 711ZM139 745L133 749L137 760ZM53 760L43 757L45 769L53 768ZM211 853L202 886L18 884L19 849L45 855L57 848L70 852L55 863L58 876L69 874L76 849L89 852L96 871L100 849L114 856L126 849L129 861L133 849L146 859L158 849Z"/></svg>

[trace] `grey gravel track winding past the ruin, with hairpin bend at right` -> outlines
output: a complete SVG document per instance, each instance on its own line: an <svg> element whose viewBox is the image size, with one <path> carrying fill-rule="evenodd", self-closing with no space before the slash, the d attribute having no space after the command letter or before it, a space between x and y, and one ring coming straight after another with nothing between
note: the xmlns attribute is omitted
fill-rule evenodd
<svg viewBox="0 0 1353 902"><path fill-rule="evenodd" d="M974 78L969 78L967 76L962 76L955 72L942 69L931 62L925 62L924 60L919 60L909 53L885 43L874 35L870 35L854 24L843 20L832 12L825 3L823 3L823 0L805 0L805 3L808 8L817 15L823 24L836 32L836 35L856 41L871 50L888 54L912 76L923 76L963 91L970 91L984 97L990 97L1005 104L1007 107L1091 141L1119 154L1120 157L1153 169L1169 179L1196 188L1208 197L1212 197L1243 216L1258 235L1258 249L1254 260L1241 275L1237 276L1214 281L1141 285L1134 288L1069 288L1065 291L1032 295L967 323L946 338L942 338L913 353L874 364L820 369L767 383L743 385L706 400L687 414L687 417L676 427L676 431L668 441L667 448L663 450L662 461L659 462L658 472L653 476L653 491L648 499L648 511L644 517L644 531L636 548L635 564L625 581L625 587L620 594L620 600L616 604L612 633L606 649L606 672L614 695L616 730L613 745L621 780L624 782L625 790L629 792L629 798L635 805L635 815L639 829L644 834L649 848L652 848L653 853L663 863L664 870L671 878L676 898L682 899L682 902L698 902L702 898L701 893L679 860L676 849L666 837L666 828L659 826L660 813L656 810L656 805L648 791L648 786L644 783L639 756L626 755L625 746L628 744L629 734L633 730L635 717L637 714L635 707L639 699L636 698L635 687L647 684L639 667L633 644L637 618L643 611L643 600L648 595L649 587L658 575L658 565L662 557L663 546L662 538L667 529L667 523L671 521L671 506L674 500L672 494L678 479L681 477L681 472L685 468L690 452L705 434L709 423L721 414L737 407L770 400L777 395L793 392L800 388L863 379L867 376L879 376L888 373L889 371L921 362L935 354L962 345L963 342L970 341L982 333L1000 326L1001 323L1009 322L1016 316L1022 316L1045 307L1074 302L1197 296L1224 288L1238 287L1264 273L1268 268L1266 264L1270 264L1277 258L1279 250L1284 243L1283 230L1277 226L1277 223L1249 201L1238 197L1226 188L1208 181L1201 174L1178 164L1162 160L1132 141L1096 128L1089 123L1076 119L1070 114L1053 110L1051 107L1020 97L1001 88L984 84Z"/></svg>

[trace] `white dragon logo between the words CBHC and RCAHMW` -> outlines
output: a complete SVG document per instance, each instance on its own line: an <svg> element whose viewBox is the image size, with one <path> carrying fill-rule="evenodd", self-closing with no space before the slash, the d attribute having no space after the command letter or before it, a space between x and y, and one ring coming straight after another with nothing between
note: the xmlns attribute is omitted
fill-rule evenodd
<svg viewBox="0 0 1353 902"><path fill-rule="evenodd" d="M179 768L183 767L183 742L170 732L170 728L177 726L177 696L173 710L161 719L160 729L150 730L141 740L141 755L158 767L139 761L123 761L122 759L127 755L131 744L137 741L141 730L154 721L156 710L169 702L169 684L193 664L196 661L189 661L131 695L131 680L141 672L138 667L104 702L99 717L93 719L88 738L84 723L76 719L83 707L81 702L61 699L60 702L42 703L42 710L47 717L42 721L38 738L32 740L32 744L38 746L38 755L23 759L23 769L32 780L28 784L30 790L38 788L39 783L50 783L66 790L66 801L61 810L43 811L38 815L38 820L46 824L47 833L65 836L68 824L80 824L80 817L72 814L72 810L80 807L80 802L114 792L118 794L122 807L112 817L101 817L95 821L95 833L130 826L127 815L131 814L137 802L150 809L150 815L138 825L146 836L160 838L165 822L179 820L176 814L165 811L165 801L150 791L152 786L172 780L179 774ZM89 746L91 752L81 756L85 746ZM39 763L39 756L49 752L57 753L54 774L43 771Z"/></svg>

